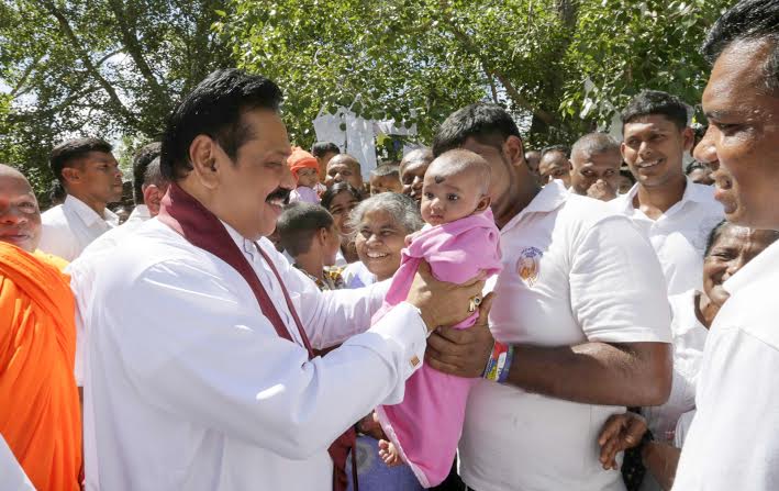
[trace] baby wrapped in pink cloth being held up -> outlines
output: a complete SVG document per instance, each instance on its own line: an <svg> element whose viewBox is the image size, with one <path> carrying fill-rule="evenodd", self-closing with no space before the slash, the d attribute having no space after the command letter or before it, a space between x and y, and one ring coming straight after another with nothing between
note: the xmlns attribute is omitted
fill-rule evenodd
<svg viewBox="0 0 779 491"><path fill-rule="evenodd" d="M458 284L481 271L500 271L500 234L489 209L489 164L472 152L449 150L431 163L421 202L427 225L410 237L374 322L405 299L423 260L438 280ZM474 312L456 327L470 327L477 317ZM439 484L455 458L472 381L427 366L414 373L402 403L376 410L390 440L382 445L383 460L393 465L402 459L425 488Z"/></svg>

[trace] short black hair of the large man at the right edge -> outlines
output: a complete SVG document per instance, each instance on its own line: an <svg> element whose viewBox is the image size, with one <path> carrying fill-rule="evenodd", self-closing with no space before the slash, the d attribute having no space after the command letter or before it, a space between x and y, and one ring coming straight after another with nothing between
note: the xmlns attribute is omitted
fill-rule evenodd
<svg viewBox="0 0 779 491"><path fill-rule="evenodd" d="M724 13L709 31L703 43L703 56L714 64L732 43L767 40L771 54L764 66L766 88L779 91L779 2L776 0L742 0Z"/></svg>

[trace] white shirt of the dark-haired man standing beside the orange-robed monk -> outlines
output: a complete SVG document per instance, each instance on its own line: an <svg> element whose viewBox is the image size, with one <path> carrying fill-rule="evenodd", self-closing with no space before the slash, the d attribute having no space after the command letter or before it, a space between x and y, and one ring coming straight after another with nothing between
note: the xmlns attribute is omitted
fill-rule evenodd
<svg viewBox="0 0 779 491"><path fill-rule="evenodd" d="M105 209L100 216L87 203L68 194L58 204L41 215L43 230L38 249L71 261L92 241L119 225L119 216Z"/></svg>

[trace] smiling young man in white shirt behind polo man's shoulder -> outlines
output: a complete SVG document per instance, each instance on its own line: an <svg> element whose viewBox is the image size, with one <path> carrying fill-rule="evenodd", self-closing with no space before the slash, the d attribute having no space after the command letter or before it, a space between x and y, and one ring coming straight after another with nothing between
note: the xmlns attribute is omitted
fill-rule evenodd
<svg viewBox="0 0 779 491"><path fill-rule="evenodd" d="M702 288L703 249L723 219L714 190L685 176L682 157L694 134L687 104L666 92L645 90L622 112L622 156L637 182L611 201L649 238L668 294Z"/></svg>

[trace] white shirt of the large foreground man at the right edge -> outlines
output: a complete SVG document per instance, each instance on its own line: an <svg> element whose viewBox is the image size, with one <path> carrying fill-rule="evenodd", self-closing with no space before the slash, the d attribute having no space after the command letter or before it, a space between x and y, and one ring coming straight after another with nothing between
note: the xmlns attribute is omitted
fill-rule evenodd
<svg viewBox="0 0 779 491"><path fill-rule="evenodd" d="M779 489L779 242L724 283L674 489Z"/></svg>

